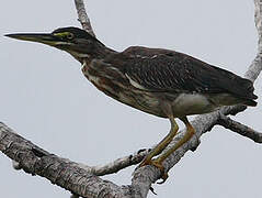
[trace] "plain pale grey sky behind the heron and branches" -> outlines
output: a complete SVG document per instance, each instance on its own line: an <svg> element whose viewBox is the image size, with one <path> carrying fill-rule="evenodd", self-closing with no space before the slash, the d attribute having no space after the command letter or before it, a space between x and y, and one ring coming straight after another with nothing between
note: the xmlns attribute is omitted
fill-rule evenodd
<svg viewBox="0 0 262 198"><path fill-rule="evenodd" d="M130 45L171 48L243 75L257 52L252 0L89 0L100 41L117 51ZM169 121L126 107L96 90L68 54L5 33L80 26L72 0L2 1L0 7L0 120L62 157L104 164L159 142ZM261 77L255 94L262 94ZM230 86L230 85L229 85ZM261 98L235 119L262 131ZM183 127L180 123L181 127ZM261 198L262 145L216 127L155 185L158 196ZM129 167L106 176L129 184ZM0 153L0 197L69 197L41 177L15 172Z"/></svg>

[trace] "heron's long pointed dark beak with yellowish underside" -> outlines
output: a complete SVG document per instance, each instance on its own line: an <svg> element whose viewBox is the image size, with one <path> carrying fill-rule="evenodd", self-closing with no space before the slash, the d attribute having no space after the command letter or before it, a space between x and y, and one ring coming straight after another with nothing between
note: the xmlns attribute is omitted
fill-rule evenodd
<svg viewBox="0 0 262 198"><path fill-rule="evenodd" d="M4 36L12 37L15 40L23 40L23 41L31 41L31 42L37 42L43 43L47 45L55 46L56 44L61 43L62 41L54 36L53 34L32 34L32 33L18 33L18 34L5 34Z"/></svg>

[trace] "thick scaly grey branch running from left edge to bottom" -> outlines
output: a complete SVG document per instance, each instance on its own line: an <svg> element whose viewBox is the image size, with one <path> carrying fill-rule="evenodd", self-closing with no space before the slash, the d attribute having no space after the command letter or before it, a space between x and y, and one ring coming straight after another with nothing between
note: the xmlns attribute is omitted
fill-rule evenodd
<svg viewBox="0 0 262 198"><path fill-rule="evenodd" d="M128 197L128 187L119 187L87 172L81 165L50 154L0 122L0 151L19 162L22 169L47 178L82 197Z"/></svg>

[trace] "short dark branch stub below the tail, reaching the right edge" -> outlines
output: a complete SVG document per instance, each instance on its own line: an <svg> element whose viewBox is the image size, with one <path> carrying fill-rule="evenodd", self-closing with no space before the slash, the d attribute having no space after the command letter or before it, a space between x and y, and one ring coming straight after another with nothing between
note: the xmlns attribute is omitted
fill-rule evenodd
<svg viewBox="0 0 262 198"><path fill-rule="evenodd" d="M229 129L233 132L237 132L240 135L247 136L253 140L257 143L262 143L262 133L254 131L253 129L241 124L225 114L220 114L220 118L217 121L217 124L223 125L226 129Z"/></svg>

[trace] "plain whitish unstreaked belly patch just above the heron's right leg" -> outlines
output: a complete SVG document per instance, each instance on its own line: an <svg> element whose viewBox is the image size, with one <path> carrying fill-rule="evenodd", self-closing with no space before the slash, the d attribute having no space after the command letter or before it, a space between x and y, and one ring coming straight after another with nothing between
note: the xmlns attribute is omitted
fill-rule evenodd
<svg viewBox="0 0 262 198"><path fill-rule="evenodd" d="M180 118L190 114L202 114L216 110L218 107L212 103L201 94L180 94L172 101L174 117Z"/></svg>

